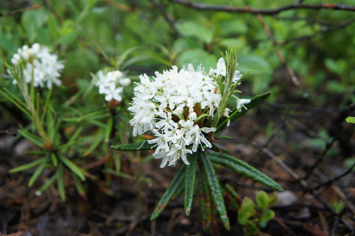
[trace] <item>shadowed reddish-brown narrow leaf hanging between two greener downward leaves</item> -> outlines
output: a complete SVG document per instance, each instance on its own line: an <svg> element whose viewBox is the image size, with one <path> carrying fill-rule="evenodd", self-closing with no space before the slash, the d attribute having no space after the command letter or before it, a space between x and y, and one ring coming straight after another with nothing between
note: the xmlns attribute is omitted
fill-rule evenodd
<svg viewBox="0 0 355 236"><path fill-rule="evenodd" d="M198 181L198 203L200 204L201 222L204 231L207 231L211 226L211 199L208 192L208 184L206 176L199 172L197 174Z"/></svg>

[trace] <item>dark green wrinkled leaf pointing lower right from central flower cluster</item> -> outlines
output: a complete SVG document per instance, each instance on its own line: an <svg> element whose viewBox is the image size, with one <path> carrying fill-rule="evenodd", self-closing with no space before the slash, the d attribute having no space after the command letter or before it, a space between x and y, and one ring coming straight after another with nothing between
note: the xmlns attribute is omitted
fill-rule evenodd
<svg viewBox="0 0 355 236"><path fill-rule="evenodd" d="M269 176L262 173L255 167L252 167L245 161L242 161L241 159L226 154L222 155L216 152L209 152L207 155L208 158L214 163L224 165L225 167L228 167L239 174L245 175L257 182L260 182L273 190L283 191L281 185L279 185L275 180L271 179Z"/></svg>

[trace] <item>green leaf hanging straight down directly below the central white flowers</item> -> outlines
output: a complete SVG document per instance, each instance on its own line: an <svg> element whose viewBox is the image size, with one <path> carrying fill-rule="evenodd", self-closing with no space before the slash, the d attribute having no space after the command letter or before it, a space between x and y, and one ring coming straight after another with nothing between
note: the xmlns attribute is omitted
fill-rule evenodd
<svg viewBox="0 0 355 236"><path fill-rule="evenodd" d="M194 190L195 179L196 179L196 166L197 166L198 152L195 152L189 156L191 156L191 162L190 165L187 165L186 167L185 200L184 200L185 214L187 216L190 215L191 206L193 202L193 190Z"/></svg>

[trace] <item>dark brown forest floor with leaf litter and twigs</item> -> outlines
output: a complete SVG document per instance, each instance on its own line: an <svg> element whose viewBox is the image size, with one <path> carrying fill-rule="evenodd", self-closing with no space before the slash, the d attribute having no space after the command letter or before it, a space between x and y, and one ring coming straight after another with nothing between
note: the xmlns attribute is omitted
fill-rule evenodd
<svg viewBox="0 0 355 236"><path fill-rule="evenodd" d="M295 98L292 90L280 94L284 97L275 103L264 101L232 124L225 134L235 139L220 146L271 176L285 190L277 193L278 202L272 207L276 217L259 235L355 235L355 178L350 171L352 164L344 162L354 155L355 125L345 123L354 104L339 109L343 97L335 96L322 106L314 106L306 99ZM16 131L16 121L3 121L0 129ZM68 183L68 199L63 203L55 187L42 196L35 195L49 173L44 172L32 188L27 185L33 169L9 174L9 169L34 159L24 154L33 148L27 140L0 136L0 235L243 235L228 197L230 231L216 218L211 230L203 232L197 197L191 215L186 217L182 194L156 220L149 220L182 162L163 169L159 160L143 163L141 176L147 181L141 184L105 176L101 173L104 162L98 162L91 173L109 178L109 184L88 180L83 197ZM143 152L142 157L148 154ZM132 175L138 171L138 157L133 162L129 158L123 155L122 172ZM226 168L217 168L217 174L242 197L255 199L258 190L272 192Z"/></svg>

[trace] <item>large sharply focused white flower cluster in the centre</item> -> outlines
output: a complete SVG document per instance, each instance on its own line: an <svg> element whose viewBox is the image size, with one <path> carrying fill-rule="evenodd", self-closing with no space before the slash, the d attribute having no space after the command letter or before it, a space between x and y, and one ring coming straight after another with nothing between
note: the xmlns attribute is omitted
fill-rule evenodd
<svg viewBox="0 0 355 236"><path fill-rule="evenodd" d="M192 64L178 71L178 67L155 72L156 77L150 80L140 75L141 83L135 87L135 97L129 111L134 114L130 124L133 125L133 136L153 131L155 139L148 141L156 144L153 154L155 158L163 158L161 168L175 165L181 157L189 164L186 153L197 151L202 143L212 147L203 135L215 131L215 128L200 127L194 120L197 115L213 116L221 96L217 84L203 72L201 67L195 71ZM192 144L192 149L186 147Z"/></svg>

